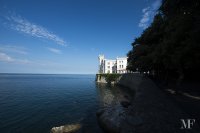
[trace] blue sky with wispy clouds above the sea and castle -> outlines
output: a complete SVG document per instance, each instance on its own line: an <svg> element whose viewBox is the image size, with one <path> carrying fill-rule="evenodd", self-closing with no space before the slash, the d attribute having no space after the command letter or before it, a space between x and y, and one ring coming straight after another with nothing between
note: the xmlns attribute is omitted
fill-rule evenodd
<svg viewBox="0 0 200 133"><path fill-rule="evenodd" d="M0 0L0 73L94 74L126 56L161 0Z"/></svg>

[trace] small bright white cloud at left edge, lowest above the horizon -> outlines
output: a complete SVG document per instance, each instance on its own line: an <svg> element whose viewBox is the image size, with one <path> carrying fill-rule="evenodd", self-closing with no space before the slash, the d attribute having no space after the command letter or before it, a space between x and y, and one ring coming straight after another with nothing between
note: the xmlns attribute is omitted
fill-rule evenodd
<svg viewBox="0 0 200 133"><path fill-rule="evenodd" d="M31 61L27 59L15 59L6 53L0 52L0 61L2 62L10 62L10 63L20 63L20 64L30 64L32 63Z"/></svg>

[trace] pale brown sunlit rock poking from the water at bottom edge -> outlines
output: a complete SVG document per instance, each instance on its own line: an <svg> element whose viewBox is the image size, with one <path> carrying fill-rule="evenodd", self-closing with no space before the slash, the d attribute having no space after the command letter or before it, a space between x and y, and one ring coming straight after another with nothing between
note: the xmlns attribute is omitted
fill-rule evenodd
<svg viewBox="0 0 200 133"><path fill-rule="evenodd" d="M53 127L51 133L75 133L80 130L80 124L63 125L60 127Z"/></svg>

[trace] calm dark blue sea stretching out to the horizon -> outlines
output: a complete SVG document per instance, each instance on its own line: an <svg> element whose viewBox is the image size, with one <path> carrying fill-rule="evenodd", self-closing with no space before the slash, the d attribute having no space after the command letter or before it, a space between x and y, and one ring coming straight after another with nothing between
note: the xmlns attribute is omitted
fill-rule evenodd
<svg viewBox="0 0 200 133"><path fill-rule="evenodd" d="M54 126L82 125L102 133L96 111L114 100L95 75L0 74L0 132L49 133Z"/></svg>

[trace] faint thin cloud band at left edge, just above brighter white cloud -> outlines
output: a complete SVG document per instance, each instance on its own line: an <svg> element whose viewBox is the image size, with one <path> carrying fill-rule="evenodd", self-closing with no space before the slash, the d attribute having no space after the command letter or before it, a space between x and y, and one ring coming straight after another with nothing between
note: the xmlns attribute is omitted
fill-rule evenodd
<svg viewBox="0 0 200 133"><path fill-rule="evenodd" d="M20 46L0 45L0 51L3 52L14 52L17 54L26 55L27 54L26 50L27 50L26 48Z"/></svg>

